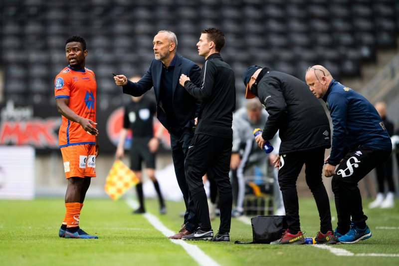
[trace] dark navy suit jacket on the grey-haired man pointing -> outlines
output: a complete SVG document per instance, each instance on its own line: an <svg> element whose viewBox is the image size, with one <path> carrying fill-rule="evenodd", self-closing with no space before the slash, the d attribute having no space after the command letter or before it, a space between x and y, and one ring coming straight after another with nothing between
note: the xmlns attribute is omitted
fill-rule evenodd
<svg viewBox="0 0 399 266"><path fill-rule="evenodd" d="M140 96L146 91L154 87L155 97L157 100L157 118L165 126L166 129L172 134L176 134L171 125L168 124L167 115L163 108L165 103L160 101L160 87L162 78L163 64L160 60L153 59L150 67L144 76L137 82L128 80L128 84L123 86L123 93L133 96ZM184 127L194 126L194 118L197 117L200 110L199 102L191 96L185 88L180 85L179 78L181 74L190 77L196 85L200 85L200 67L193 61L176 54L175 70L173 74L173 102L172 106L178 118L181 129ZM170 104L170 103L168 103Z"/></svg>

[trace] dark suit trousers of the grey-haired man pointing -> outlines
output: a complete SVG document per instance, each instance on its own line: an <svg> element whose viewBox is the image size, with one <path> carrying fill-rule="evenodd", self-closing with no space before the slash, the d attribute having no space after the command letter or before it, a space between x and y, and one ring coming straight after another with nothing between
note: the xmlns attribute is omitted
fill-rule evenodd
<svg viewBox="0 0 399 266"><path fill-rule="evenodd" d="M176 179L179 188L182 191L184 203L186 205L186 213L184 216L184 224L186 229L194 232L198 228L197 210L190 194L189 187L186 182L185 160L189 150L190 143L194 133L192 128L186 127L179 134L171 135L171 149L173 165L175 167Z"/></svg>

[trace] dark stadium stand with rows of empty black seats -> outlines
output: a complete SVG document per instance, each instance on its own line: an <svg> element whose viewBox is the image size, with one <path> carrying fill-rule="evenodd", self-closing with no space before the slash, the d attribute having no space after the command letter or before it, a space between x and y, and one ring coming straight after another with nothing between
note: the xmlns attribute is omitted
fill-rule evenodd
<svg viewBox="0 0 399 266"><path fill-rule="evenodd" d="M0 65L5 99L52 101L53 78L66 64L66 37L87 40L87 67L98 90L120 95L110 72L142 75L158 30L170 29L178 52L201 64L200 30L219 27L226 36L222 56L241 75L250 64L304 78L321 63L340 79L361 75L376 51L395 47L398 0L2 0ZM25 96L24 96L25 95Z"/></svg>

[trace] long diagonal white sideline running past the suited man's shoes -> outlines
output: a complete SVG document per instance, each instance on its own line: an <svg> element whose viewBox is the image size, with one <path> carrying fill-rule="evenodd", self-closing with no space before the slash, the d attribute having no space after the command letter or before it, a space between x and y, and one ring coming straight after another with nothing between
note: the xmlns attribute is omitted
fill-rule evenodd
<svg viewBox="0 0 399 266"><path fill-rule="evenodd" d="M136 208L137 202L132 199L126 199L126 203L132 208ZM169 237L175 234L172 230L168 229L164 224L156 217L150 213L143 214L143 217L158 231L160 231L164 236ZM186 252L200 265L200 266L219 266L215 261L207 256L199 247L193 244L188 244L181 239L170 239L175 244L182 246Z"/></svg>

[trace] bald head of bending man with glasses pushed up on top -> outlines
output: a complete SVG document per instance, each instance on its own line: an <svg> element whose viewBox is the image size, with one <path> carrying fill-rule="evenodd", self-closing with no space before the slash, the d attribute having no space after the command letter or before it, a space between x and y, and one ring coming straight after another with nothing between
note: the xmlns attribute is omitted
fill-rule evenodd
<svg viewBox="0 0 399 266"><path fill-rule="evenodd" d="M324 66L314 65L306 69L305 80L310 91L317 98L322 98L326 94L333 76Z"/></svg>

